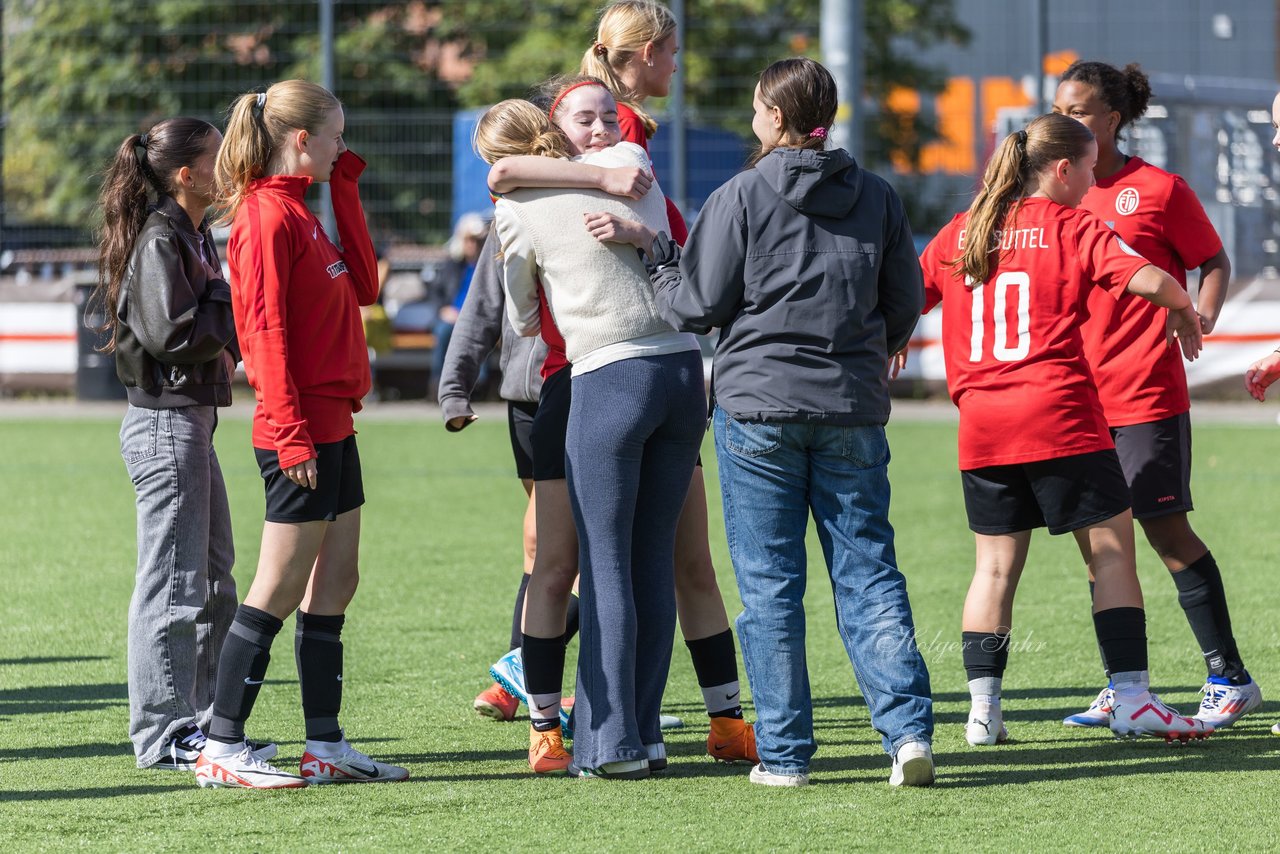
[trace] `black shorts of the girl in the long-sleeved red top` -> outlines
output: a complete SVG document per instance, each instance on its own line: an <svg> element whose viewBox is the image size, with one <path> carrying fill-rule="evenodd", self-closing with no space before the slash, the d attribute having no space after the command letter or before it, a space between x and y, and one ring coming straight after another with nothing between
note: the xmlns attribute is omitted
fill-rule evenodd
<svg viewBox="0 0 1280 854"><path fill-rule="evenodd" d="M316 446L316 488L300 487L284 476L275 451L253 448L266 481L266 521L332 522L365 503L356 437Z"/></svg>

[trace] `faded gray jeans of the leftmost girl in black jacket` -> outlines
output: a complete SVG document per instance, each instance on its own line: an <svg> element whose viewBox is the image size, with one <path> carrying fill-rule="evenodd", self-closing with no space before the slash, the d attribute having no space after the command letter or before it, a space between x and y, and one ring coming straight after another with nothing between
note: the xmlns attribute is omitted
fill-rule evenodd
<svg viewBox="0 0 1280 854"><path fill-rule="evenodd" d="M154 764L175 730L204 727L236 616L232 519L214 452L218 410L129 406L120 456L133 480L138 567L129 602L129 737Z"/></svg>

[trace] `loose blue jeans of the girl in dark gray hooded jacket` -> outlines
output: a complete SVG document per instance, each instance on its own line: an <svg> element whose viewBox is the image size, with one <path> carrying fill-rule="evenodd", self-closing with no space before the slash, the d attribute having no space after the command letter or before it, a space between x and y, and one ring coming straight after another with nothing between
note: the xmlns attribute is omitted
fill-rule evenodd
<svg viewBox="0 0 1280 854"><path fill-rule="evenodd" d="M931 741L929 672L888 522L884 428L739 421L718 407L714 423L760 763L778 775L805 773L817 752L804 615L810 512L872 726L891 754Z"/></svg>

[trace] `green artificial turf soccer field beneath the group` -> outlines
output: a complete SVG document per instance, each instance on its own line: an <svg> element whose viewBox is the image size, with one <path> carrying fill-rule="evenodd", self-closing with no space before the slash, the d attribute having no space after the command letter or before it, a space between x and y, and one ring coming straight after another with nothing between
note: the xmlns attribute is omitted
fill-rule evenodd
<svg viewBox="0 0 1280 854"><path fill-rule="evenodd" d="M362 583L343 634L347 731L412 780L265 794L200 790L192 775L134 767L125 699L134 517L119 420L0 419L0 839L10 850L1247 850L1280 834L1280 737L1268 732L1280 704L1189 746L1061 726L1101 688L1069 536L1037 534L1032 545L1005 677L1011 741L965 744L959 635L973 539L955 425L910 416L890 426L892 520L933 680L937 786L887 785L890 761L836 635L815 540L814 785L753 786L746 766L705 755L700 694L678 640L664 709L689 726L668 734L666 773L535 778L527 721L471 711L506 650L521 566L524 492L506 423L486 415L445 434L422 412L358 416ZM243 595L262 512L243 412L223 421L218 448ZM1265 693L1280 693L1277 449L1274 425L1197 425L1193 522L1222 566L1235 634ZM709 438L703 457L712 552L736 615ZM1190 713L1203 666L1167 572L1140 539L1139 570L1153 688ZM291 635L287 625L250 721L252 737L279 741L283 767L302 749Z"/></svg>

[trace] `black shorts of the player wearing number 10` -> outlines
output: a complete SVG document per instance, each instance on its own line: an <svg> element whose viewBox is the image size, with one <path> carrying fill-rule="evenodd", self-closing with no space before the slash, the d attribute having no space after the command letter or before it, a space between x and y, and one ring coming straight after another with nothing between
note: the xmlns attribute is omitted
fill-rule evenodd
<svg viewBox="0 0 1280 854"><path fill-rule="evenodd" d="M1048 528L1065 534L1129 510L1129 487L1116 452L961 471L969 530L1012 534Z"/></svg>

